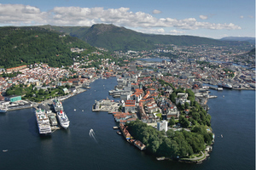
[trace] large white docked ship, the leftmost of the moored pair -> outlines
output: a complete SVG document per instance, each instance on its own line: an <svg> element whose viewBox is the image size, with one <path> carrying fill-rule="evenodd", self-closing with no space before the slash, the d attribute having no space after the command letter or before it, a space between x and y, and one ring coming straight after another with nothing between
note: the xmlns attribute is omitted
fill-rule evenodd
<svg viewBox="0 0 256 170"><path fill-rule="evenodd" d="M44 110L38 109L35 111L37 122L38 122L38 130L41 135L49 135L51 134L51 128L49 125L49 118Z"/></svg>

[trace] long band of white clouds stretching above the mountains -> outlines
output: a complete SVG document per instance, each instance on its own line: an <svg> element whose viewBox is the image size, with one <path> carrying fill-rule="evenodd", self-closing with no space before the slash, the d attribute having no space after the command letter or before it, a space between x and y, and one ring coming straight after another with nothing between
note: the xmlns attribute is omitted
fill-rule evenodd
<svg viewBox="0 0 256 170"><path fill-rule="evenodd" d="M154 10L156 12L156 10ZM159 12L159 11L158 11ZM201 15L206 19L207 16ZM22 4L0 3L0 25L44 25L55 26L92 26L97 23L113 24L131 28L152 29L154 27L173 27L183 30L211 29L237 30L241 29L233 23L216 24L199 22L195 18L177 20L172 18L157 19L151 14L141 11L131 12L130 8L80 8L55 7L48 12L39 8ZM164 30L155 30L164 33Z"/></svg>

